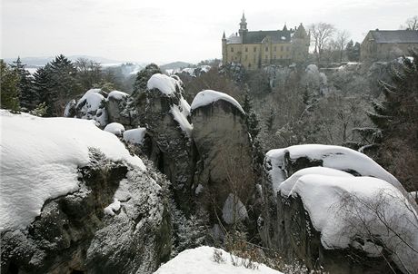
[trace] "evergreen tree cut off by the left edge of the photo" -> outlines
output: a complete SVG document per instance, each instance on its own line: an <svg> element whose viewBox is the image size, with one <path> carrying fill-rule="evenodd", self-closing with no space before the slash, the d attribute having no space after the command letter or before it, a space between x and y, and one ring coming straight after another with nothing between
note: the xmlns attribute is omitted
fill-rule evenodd
<svg viewBox="0 0 418 274"><path fill-rule="evenodd" d="M18 112L19 105L19 74L0 59L0 87L2 109Z"/></svg>

